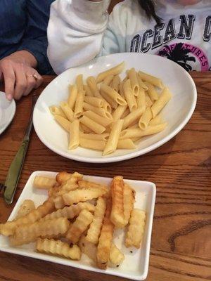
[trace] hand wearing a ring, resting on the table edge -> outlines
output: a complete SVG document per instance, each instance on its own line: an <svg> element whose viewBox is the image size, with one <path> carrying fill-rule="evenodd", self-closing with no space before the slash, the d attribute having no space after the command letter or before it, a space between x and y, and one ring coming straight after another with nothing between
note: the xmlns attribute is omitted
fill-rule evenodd
<svg viewBox="0 0 211 281"><path fill-rule="evenodd" d="M27 51L17 51L0 60L0 80L4 80L8 100L19 100L37 89L42 77L34 69L37 60Z"/></svg>

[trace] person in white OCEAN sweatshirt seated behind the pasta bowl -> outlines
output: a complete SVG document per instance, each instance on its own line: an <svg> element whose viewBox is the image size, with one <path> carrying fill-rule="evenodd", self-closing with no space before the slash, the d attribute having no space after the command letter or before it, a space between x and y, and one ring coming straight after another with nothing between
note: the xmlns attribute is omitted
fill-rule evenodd
<svg viewBox="0 0 211 281"><path fill-rule="evenodd" d="M48 26L48 56L59 74L96 56L161 55L185 70L211 70L210 0L56 0Z"/></svg>

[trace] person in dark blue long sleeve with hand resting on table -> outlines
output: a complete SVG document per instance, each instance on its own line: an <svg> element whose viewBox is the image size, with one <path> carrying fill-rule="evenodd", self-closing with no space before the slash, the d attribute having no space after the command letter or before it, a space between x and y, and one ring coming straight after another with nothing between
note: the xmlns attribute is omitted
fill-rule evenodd
<svg viewBox="0 0 211 281"><path fill-rule="evenodd" d="M53 72L47 58L47 25L53 0L0 1L0 82L8 100L37 88Z"/></svg>

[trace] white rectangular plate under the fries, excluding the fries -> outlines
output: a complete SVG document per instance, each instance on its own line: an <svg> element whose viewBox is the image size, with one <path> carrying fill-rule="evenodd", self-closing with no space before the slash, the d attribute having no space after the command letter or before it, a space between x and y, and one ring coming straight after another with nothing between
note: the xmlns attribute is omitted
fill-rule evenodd
<svg viewBox="0 0 211 281"><path fill-rule="evenodd" d="M13 218L15 218L18 208L20 207L20 204L23 202L23 200L34 200L37 206L44 202L44 200L46 200L46 190L34 190L32 188L32 183L34 181L35 176L56 176L56 173L47 171L35 171L27 181L27 184L25 185L25 188L23 189L23 192L21 193L18 202L15 204L15 207L11 213L11 216L8 218L8 221L11 221L13 220ZM84 178L89 181L96 181L104 184L108 184L111 181L111 178L102 178L97 176L84 176ZM20 247L11 247L8 244L8 238L2 235L0 235L0 250L12 254L29 256L34 259L51 261L53 263L60 263L65 266L72 266L75 268L91 270L98 273L106 273L110 275L126 277L131 280L146 279L148 273L148 261L151 244L151 231L153 226L156 188L154 183L150 183L147 181L124 181L132 185L134 190L136 190L135 207L146 211L146 226L143 234L143 241L141 243L141 249L127 249L126 247L124 247L124 231L115 230L114 242L115 244L117 244L117 247L120 247L125 256L122 265L118 268L108 268L107 270L98 269L94 266L91 266L91 260L89 260L89 258L84 255L82 255L81 261L71 261L68 259L60 258L58 256L39 254L34 251L34 243L30 243ZM133 253L130 253L130 251L133 251Z"/></svg>

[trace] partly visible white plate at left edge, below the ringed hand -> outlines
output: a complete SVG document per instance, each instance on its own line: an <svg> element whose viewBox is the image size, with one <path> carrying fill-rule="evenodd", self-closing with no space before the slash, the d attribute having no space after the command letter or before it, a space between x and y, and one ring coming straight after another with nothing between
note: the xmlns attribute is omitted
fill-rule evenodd
<svg viewBox="0 0 211 281"><path fill-rule="evenodd" d="M7 100L5 93L0 91L0 135L11 124L15 110L15 100Z"/></svg>

